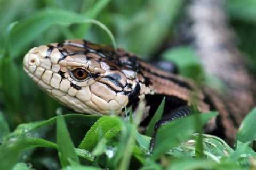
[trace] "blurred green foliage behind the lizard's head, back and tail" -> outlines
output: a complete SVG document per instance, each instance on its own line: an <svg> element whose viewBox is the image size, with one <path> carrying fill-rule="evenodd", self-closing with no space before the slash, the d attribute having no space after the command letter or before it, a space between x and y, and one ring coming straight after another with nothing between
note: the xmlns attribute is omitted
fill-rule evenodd
<svg viewBox="0 0 256 170"><path fill-rule="evenodd" d="M189 27L182 0L0 0L0 115L13 130L22 122L55 115L59 107L27 77L22 58L34 46L85 38L111 44L101 28L84 24L96 19L113 33L118 47L139 54L143 59L175 60L181 74L197 79L193 44L184 37ZM225 10L237 33L241 51L256 73L256 1L227 1ZM189 25L188 25L189 26ZM190 59L189 59L190 58ZM182 62L184 61L185 62ZM196 65L196 66L195 66ZM186 69L190 69L189 71ZM190 74L191 72L194 74ZM0 123L0 126L5 126Z"/></svg>

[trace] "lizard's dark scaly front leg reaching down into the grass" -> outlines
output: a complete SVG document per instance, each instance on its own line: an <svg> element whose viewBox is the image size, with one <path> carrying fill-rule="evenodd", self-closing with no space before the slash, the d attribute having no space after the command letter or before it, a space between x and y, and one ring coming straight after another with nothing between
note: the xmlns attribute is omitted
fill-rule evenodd
<svg viewBox="0 0 256 170"><path fill-rule="evenodd" d="M162 125L165 125L166 123L169 123L171 121L175 121L182 117L186 117L190 113L191 113L191 110L188 106L181 106L178 109L175 109L174 111L171 111L170 113L166 114L164 117L161 118L161 120L156 122L154 127L154 133L150 141L149 151L152 152L154 149L158 128L160 128Z"/></svg>

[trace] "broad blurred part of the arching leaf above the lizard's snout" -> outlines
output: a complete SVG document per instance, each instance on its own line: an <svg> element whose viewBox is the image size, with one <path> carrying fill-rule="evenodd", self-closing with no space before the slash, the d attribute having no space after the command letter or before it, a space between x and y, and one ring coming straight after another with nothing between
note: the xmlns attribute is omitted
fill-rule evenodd
<svg viewBox="0 0 256 170"><path fill-rule="evenodd" d="M9 36L10 54L12 57L18 57L22 50L27 49L33 40L52 25L68 26L74 23L82 23L85 19L87 19L85 16L66 10L39 11L13 27Z"/></svg>

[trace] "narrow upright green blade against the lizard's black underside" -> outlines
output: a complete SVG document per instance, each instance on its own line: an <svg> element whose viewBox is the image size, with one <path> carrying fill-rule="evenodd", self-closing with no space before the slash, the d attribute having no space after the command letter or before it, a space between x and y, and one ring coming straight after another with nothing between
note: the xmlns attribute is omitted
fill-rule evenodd
<svg viewBox="0 0 256 170"><path fill-rule="evenodd" d="M148 129L147 129L146 135L148 135L148 136L153 135L155 124L162 117L162 115L164 113L164 106L165 106L165 98L163 98L160 106L157 108L156 113L151 118L151 120L148 124Z"/></svg>

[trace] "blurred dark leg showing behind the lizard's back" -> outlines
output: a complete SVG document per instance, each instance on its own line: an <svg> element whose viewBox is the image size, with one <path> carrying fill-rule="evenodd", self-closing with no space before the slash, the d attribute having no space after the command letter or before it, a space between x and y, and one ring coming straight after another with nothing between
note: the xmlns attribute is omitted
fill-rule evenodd
<svg viewBox="0 0 256 170"><path fill-rule="evenodd" d="M151 62L151 64L169 73L173 73L173 74L179 73L178 66L170 61L153 61Z"/></svg>

